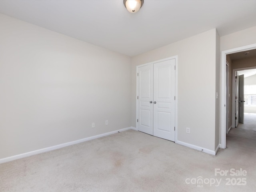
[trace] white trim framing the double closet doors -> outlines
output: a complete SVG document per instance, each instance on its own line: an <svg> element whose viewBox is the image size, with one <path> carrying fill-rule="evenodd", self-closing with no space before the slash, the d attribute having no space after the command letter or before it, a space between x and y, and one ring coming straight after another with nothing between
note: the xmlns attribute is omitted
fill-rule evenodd
<svg viewBox="0 0 256 192"><path fill-rule="evenodd" d="M138 68L142 67L142 66L146 66L149 64L154 64L157 62L162 62L162 61L166 61L166 60L171 60L171 59L175 59L175 141L178 141L178 55L176 56L172 56L172 57L168 57L168 58L164 58L164 59L160 59L160 60L156 60L156 61L152 61L152 62L148 62L145 64L141 64L141 65L137 65L136 66L136 130L138 130Z"/></svg>

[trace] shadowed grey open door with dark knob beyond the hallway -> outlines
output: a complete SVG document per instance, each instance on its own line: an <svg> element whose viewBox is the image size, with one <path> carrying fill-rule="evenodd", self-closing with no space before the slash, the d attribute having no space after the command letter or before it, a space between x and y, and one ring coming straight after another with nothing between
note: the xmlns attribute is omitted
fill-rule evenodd
<svg viewBox="0 0 256 192"><path fill-rule="evenodd" d="M238 122L244 123L244 75L239 76Z"/></svg>

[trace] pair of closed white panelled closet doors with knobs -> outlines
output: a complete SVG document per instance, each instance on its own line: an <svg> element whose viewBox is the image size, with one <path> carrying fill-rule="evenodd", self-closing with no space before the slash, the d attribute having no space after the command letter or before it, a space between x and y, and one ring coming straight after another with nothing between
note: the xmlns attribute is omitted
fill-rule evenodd
<svg viewBox="0 0 256 192"><path fill-rule="evenodd" d="M175 141L175 63L168 59L138 67L139 131Z"/></svg>

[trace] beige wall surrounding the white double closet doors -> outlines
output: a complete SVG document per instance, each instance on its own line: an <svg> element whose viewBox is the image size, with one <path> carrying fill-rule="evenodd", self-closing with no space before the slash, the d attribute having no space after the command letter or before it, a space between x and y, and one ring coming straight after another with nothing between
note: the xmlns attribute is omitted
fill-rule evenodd
<svg viewBox="0 0 256 192"><path fill-rule="evenodd" d="M178 140L215 150L216 43L212 29L132 58L132 126L136 126L136 66L178 55Z"/></svg>

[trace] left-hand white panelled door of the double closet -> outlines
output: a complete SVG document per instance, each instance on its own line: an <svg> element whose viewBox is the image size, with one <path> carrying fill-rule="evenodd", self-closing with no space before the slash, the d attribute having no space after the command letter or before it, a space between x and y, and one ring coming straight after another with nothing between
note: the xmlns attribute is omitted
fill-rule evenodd
<svg viewBox="0 0 256 192"><path fill-rule="evenodd" d="M138 130L153 135L153 64L138 68Z"/></svg>

